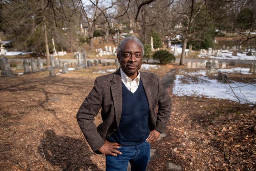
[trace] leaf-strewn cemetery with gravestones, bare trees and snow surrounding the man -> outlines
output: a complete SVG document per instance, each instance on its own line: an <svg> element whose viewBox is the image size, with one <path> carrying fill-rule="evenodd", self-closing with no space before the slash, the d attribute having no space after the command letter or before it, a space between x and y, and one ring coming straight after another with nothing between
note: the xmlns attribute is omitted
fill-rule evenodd
<svg viewBox="0 0 256 171"><path fill-rule="evenodd" d="M24 31L19 30L17 39L6 23L6 32L0 31L0 170L106 169L105 155L93 152L76 113L95 79L121 67L118 43L128 35L138 37L144 46L139 71L156 74L171 97L171 117L166 131L151 144L146 171L255 170L256 27L240 21L250 12L255 14L251 10L255 2L250 2L250 8L245 1L225 2L225 9L233 9L225 17L235 16L232 11L237 9L229 5L250 9L243 15L238 10L230 26L225 17L212 23L217 22L212 15L217 17L219 12L210 8L209 14L207 8L205 13L202 6L207 3L219 9L220 5L208 0L189 1L196 8L183 1L177 7L171 1L147 4L140 0L141 9L130 1L129 5L118 0L114 4L63 1L61 11L53 2L49 2L51 8L47 1L34 2L43 5L47 14L41 14L41 7L20 6L27 11L36 8L41 14L30 13L28 23L20 18L23 25L8 18L22 15L13 9L19 4L3 2L13 11L4 9L6 19ZM73 5L79 9L68 9ZM116 13L109 13L108 8ZM187 11L193 15L187 16ZM34 27L34 19L41 23L35 22ZM102 123L101 109L94 123Z"/></svg>

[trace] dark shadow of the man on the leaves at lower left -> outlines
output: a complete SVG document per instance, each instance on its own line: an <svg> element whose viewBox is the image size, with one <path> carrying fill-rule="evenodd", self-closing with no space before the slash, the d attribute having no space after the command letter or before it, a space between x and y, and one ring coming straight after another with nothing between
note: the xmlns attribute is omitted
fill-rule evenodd
<svg viewBox="0 0 256 171"><path fill-rule="evenodd" d="M91 161L92 152L83 140L57 136L53 130L44 132L38 152L43 159L62 168L62 171L87 171L87 168L102 171Z"/></svg>

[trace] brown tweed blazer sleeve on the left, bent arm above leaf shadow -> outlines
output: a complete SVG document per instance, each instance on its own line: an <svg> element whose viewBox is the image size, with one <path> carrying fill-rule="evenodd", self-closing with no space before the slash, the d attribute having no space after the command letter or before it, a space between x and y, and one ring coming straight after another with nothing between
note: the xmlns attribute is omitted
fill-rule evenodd
<svg viewBox="0 0 256 171"><path fill-rule="evenodd" d="M97 132L97 126L94 124L94 117L99 113L102 103L100 87L99 78L96 78L93 89L85 98L76 114L78 125L94 152L104 144L104 140L99 132Z"/></svg>

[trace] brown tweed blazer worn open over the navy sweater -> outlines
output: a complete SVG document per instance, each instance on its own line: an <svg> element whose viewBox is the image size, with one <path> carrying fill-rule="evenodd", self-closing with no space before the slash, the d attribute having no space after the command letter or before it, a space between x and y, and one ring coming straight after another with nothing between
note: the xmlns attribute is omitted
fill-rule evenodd
<svg viewBox="0 0 256 171"><path fill-rule="evenodd" d="M149 128L164 132L171 114L171 98L155 74L140 72L140 80L149 103ZM155 113L157 105L158 112ZM100 108L103 122L97 127L93 121ZM78 124L94 152L99 153L98 149L103 146L104 140L118 129L121 114L122 80L119 68L112 74L96 78L93 89L76 115Z"/></svg>

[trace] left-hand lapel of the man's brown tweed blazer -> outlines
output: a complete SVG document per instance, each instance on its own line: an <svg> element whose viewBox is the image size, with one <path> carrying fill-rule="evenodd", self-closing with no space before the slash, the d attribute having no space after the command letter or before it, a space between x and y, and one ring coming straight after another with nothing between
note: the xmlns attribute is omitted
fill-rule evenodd
<svg viewBox="0 0 256 171"><path fill-rule="evenodd" d="M120 68L115 72L114 77L111 80L111 95L114 102L116 124L119 126L122 115L122 80Z"/></svg>

